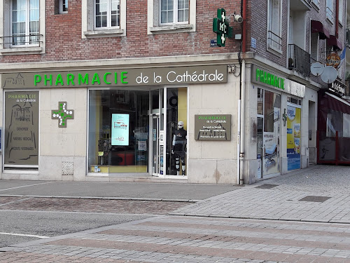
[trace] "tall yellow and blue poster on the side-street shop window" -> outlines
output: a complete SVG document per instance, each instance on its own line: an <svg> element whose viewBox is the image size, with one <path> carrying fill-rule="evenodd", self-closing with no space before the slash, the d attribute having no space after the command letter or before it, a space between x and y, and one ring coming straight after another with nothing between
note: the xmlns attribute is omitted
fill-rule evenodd
<svg viewBox="0 0 350 263"><path fill-rule="evenodd" d="M301 109L287 107L287 159L288 170L300 169Z"/></svg>

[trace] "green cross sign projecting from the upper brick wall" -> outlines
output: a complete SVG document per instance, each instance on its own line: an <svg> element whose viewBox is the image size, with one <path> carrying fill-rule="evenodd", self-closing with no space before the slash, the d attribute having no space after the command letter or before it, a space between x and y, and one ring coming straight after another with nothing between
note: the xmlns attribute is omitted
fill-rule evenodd
<svg viewBox="0 0 350 263"><path fill-rule="evenodd" d="M218 8L218 18L213 20L213 32L216 32L216 41L218 46L225 46L226 39L232 38L233 28L229 26L224 8Z"/></svg>

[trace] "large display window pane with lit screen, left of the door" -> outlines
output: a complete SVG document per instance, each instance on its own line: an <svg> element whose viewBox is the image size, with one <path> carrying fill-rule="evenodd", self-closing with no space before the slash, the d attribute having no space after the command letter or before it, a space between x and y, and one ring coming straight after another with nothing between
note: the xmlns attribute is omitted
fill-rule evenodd
<svg viewBox="0 0 350 263"><path fill-rule="evenodd" d="M149 91L90 90L89 101L90 172L147 173Z"/></svg>

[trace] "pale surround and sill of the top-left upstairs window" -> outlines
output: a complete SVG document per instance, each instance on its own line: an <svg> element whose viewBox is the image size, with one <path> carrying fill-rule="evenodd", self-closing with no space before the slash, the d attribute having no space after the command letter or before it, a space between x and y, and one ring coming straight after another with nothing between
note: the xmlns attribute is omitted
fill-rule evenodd
<svg viewBox="0 0 350 263"><path fill-rule="evenodd" d="M39 0L39 45L12 46L12 0L0 1L0 55L29 55L45 53L45 0ZM0 15L0 16L1 16Z"/></svg>

